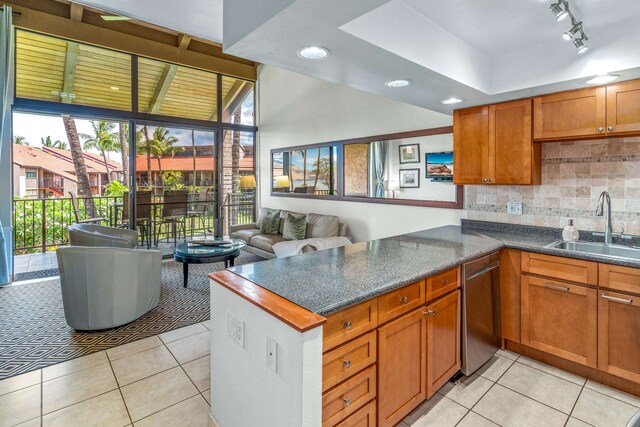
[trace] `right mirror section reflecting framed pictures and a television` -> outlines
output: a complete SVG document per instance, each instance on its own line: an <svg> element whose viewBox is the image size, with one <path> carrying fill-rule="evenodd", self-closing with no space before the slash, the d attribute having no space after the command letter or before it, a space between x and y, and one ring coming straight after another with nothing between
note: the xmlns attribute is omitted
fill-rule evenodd
<svg viewBox="0 0 640 427"><path fill-rule="evenodd" d="M452 135L344 145L344 197L455 202Z"/></svg>

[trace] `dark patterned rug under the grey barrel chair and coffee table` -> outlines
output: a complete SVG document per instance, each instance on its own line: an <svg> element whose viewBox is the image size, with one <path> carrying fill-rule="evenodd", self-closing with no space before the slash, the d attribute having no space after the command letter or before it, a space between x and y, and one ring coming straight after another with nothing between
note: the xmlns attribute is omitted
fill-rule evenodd
<svg viewBox="0 0 640 427"><path fill-rule="evenodd" d="M241 252L236 265L262 261ZM0 288L0 379L126 344L209 319L209 278L222 263L189 265L189 287L182 286L182 264L162 264L160 304L127 325L99 332L67 326L60 282Z"/></svg>

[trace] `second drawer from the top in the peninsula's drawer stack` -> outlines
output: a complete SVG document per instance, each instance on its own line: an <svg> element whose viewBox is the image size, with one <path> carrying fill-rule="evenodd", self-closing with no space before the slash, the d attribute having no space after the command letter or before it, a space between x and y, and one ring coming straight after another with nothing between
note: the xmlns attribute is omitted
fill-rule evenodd
<svg viewBox="0 0 640 427"><path fill-rule="evenodd" d="M349 341L322 356L322 391L376 361L376 331Z"/></svg>

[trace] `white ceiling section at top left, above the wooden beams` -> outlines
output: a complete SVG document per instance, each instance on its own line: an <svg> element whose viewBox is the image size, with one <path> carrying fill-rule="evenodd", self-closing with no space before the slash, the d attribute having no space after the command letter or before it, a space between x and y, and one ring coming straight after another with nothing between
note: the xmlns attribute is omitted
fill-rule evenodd
<svg viewBox="0 0 640 427"><path fill-rule="evenodd" d="M222 43L222 0L73 0L73 2Z"/></svg>

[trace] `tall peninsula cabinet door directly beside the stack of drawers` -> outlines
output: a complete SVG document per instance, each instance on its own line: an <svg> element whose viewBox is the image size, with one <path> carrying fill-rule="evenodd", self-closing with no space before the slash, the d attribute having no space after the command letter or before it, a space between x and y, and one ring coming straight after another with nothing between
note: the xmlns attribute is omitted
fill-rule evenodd
<svg viewBox="0 0 640 427"><path fill-rule="evenodd" d="M421 307L378 329L378 424L394 426L426 398L427 316Z"/></svg>

